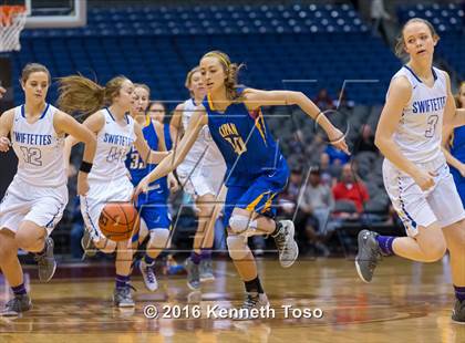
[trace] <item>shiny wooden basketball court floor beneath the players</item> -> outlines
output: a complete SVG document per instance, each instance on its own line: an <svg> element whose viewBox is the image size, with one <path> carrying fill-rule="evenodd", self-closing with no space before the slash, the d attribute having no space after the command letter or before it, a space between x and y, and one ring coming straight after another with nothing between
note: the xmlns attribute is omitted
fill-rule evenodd
<svg viewBox="0 0 465 343"><path fill-rule="evenodd" d="M244 297L232 264L218 261L218 278L202 294L189 294L180 277L162 278L159 290L148 293L134 277L138 291L133 311L112 306L111 278L32 280L33 310L16 320L0 318L0 342L465 342L465 325L451 322L454 299L446 260L426 266L385 259L371 284L358 279L351 260L303 260L290 269L270 259L258 263L275 318L207 319L208 306L231 308ZM9 297L2 282L0 305ZM186 304L189 310L200 305L203 318L144 315L146 305L162 311L163 305ZM321 309L323 316L292 318L296 310L285 318L281 305Z"/></svg>

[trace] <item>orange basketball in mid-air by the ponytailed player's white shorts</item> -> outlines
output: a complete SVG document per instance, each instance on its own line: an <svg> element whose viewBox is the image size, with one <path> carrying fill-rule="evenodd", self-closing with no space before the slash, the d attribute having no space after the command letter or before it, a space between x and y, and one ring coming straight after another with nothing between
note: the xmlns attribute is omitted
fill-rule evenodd
<svg viewBox="0 0 465 343"><path fill-rule="evenodd" d="M138 231L140 218L131 202L108 202L102 209L99 227L106 238L127 240Z"/></svg>

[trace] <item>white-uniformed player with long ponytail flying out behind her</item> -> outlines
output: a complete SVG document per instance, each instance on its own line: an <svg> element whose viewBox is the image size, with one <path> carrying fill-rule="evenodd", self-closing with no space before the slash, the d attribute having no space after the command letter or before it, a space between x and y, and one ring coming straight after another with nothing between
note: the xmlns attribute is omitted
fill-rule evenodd
<svg viewBox="0 0 465 343"><path fill-rule="evenodd" d="M106 253L116 250L113 303L118 308L132 308L135 303L130 283L133 259L131 237L118 241L106 238L99 227L100 215L107 202L131 200L133 186L124 162L133 144L145 163L159 163L167 153L151 150L141 126L127 115L134 102L134 84L127 77L116 76L101 86L81 75L71 75L60 80L60 91L62 107L90 114L83 125L97 139L95 162L89 174L90 189L80 199L85 224L81 242L87 254L92 246ZM90 101L80 103L76 98ZM74 144L73 139L66 138L66 160Z"/></svg>

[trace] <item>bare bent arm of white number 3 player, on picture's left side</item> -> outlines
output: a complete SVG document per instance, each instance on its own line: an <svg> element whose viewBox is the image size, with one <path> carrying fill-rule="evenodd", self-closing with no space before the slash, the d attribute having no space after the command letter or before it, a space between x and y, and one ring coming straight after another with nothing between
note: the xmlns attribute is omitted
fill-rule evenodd
<svg viewBox="0 0 465 343"><path fill-rule="evenodd" d="M415 183L426 190L434 185L433 174L426 173L409 160L394 143L393 135L401 121L403 110L412 96L412 85L403 77L399 76L391 81L388 91L386 103L381 112L378 123L374 144L392 164L399 169L412 176Z"/></svg>

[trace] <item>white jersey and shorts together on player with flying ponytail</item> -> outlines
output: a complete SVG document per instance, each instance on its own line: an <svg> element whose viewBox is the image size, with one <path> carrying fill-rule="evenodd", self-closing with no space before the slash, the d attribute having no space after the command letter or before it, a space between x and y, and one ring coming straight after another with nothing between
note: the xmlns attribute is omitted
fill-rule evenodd
<svg viewBox="0 0 465 343"><path fill-rule="evenodd" d="M134 119L126 115L126 125L114 119L108 108L101 111L105 124L97 134L94 166L89 174L90 191L81 196L81 211L91 238L104 239L99 218L108 201L131 200L133 185L130 181L124 160L135 141ZM110 250L114 246L108 247Z"/></svg>

